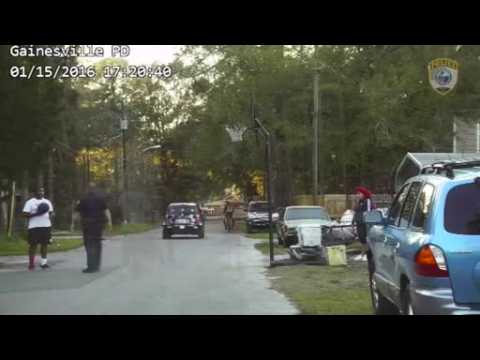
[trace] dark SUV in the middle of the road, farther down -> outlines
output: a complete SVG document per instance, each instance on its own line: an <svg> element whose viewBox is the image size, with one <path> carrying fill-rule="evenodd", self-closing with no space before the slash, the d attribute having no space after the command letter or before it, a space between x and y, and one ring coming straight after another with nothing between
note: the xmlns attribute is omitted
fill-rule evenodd
<svg viewBox="0 0 480 360"><path fill-rule="evenodd" d="M163 223L163 238L173 235L205 237L205 219L197 203L172 203L167 208Z"/></svg>

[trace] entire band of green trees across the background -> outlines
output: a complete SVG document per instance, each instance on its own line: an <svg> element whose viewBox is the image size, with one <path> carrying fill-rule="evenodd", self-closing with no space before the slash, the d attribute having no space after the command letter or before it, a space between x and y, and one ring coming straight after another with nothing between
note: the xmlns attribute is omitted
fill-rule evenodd
<svg viewBox="0 0 480 360"><path fill-rule="evenodd" d="M234 184L247 197L262 195L254 181L264 172L264 140L247 131L243 142L232 143L225 130L252 127L253 102L273 136L275 202L310 193L315 71L324 192L352 191L359 183L387 191L407 151L451 151L453 117L479 115L475 45L460 52L450 45L185 46L169 80L68 81L12 79L12 65L76 59L12 58L8 48L0 46L0 179L20 181L27 171L32 185L52 155L55 202L65 223L86 186L87 163L79 157L86 149L112 159L91 164L92 180L122 190L121 118L129 119L130 189L146 192L161 210L170 201L216 198ZM460 63L459 84L444 97L427 77L428 62L438 57ZM98 74L126 65L95 64Z"/></svg>

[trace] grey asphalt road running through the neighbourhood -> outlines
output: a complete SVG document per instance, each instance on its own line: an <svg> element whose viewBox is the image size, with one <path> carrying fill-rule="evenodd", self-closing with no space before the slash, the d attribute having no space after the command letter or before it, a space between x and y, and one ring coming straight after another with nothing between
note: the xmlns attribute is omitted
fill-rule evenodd
<svg viewBox="0 0 480 360"><path fill-rule="evenodd" d="M205 239L162 240L161 230L104 243L102 271L83 274L83 249L49 256L49 270L26 258L0 259L0 314L277 315L295 307L270 289L267 259L254 240L207 224Z"/></svg>

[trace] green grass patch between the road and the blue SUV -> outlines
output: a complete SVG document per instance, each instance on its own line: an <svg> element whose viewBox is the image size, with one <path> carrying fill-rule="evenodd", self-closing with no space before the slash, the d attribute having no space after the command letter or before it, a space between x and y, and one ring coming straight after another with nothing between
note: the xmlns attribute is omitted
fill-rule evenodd
<svg viewBox="0 0 480 360"><path fill-rule="evenodd" d="M294 265L268 269L272 287L304 315L371 315L366 263L346 267Z"/></svg>

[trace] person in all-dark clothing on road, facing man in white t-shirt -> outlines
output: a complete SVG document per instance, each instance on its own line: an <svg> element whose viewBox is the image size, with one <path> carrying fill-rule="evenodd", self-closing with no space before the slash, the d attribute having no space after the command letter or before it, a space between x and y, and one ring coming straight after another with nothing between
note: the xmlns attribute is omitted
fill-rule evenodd
<svg viewBox="0 0 480 360"><path fill-rule="evenodd" d="M110 211L107 208L105 197L90 184L87 194L80 200L75 209L81 217L83 243L87 253L87 268L84 273L100 271L102 259L103 230L108 222L112 227Z"/></svg>

